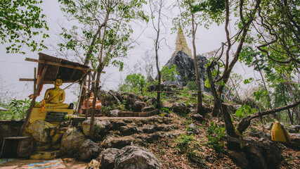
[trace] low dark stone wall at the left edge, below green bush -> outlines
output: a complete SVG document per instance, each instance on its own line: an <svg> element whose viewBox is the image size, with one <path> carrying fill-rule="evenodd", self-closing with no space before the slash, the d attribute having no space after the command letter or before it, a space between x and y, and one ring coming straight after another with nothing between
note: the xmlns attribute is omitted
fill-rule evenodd
<svg viewBox="0 0 300 169"><path fill-rule="evenodd" d="M4 137L15 137L20 134L24 121L0 120L0 151Z"/></svg>

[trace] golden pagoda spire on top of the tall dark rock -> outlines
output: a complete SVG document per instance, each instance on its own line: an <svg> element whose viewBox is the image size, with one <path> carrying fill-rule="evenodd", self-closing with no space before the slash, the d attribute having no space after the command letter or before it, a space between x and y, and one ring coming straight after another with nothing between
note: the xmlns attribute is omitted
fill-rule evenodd
<svg viewBox="0 0 300 169"><path fill-rule="evenodd" d="M178 26L178 33L176 37L176 51L183 51L185 54L188 54L190 58L193 58L192 51L188 48L188 44L186 43L185 37L183 35L183 30L181 29L181 25Z"/></svg>

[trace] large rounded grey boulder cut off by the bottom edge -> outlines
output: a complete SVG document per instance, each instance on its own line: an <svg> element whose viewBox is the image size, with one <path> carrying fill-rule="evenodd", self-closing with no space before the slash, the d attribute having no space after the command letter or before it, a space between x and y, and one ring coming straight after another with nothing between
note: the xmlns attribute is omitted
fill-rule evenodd
<svg viewBox="0 0 300 169"><path fill-rule="evenodd" d="M159 161L149 151L138 146L125 146L115 156L115 169L160 169Z"/></svg>

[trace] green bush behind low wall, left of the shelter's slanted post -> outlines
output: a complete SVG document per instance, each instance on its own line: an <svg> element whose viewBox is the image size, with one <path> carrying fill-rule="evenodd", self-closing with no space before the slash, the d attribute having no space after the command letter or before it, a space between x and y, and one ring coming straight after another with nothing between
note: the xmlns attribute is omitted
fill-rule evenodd
<svg viewBox="0 0 300 169"><path fill-rule="evenodd" d="M17 100L12 99L9 107L12 110L11 120L24 119L27 110L30 108L31 101L29 99Z"/></svg>

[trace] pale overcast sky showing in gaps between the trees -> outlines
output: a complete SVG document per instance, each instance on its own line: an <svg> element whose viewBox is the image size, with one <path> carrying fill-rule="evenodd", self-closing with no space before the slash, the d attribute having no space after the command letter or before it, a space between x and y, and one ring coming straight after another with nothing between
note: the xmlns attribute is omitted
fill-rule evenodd
<svg viewBox="0 0 300 169"><path fill-rule="evenodd" d="M169 2L168 2L169 3ZM46 44L51 44L53 46L56 45L56 39L58 39L57 35L60 33L60 25L68 25L67 21L63 17L63 13L60 11L60 7L58 1L44 1L41 4L41 8L44 10L44 14L46 14L47 23L50 29L48 33L50 38L46 40ZM175 10L174 10L175 11ZM176 12L170 13L170 17L176 16ZM162 46L161 51L159 51L159 61L160 66L162 67L169 58L171 58L171 54L175 51L175 42L176 42L176 33L171 34L171 19L165 20L167 23L167 45ZM230 23L234 25L234 23ZM70 23L69 23L70 25ZM145 25L146 26L146 25ZM139 35L141 27L133 27L135 36ZM124 64L126 65L126 69L119 73L118 68L105 68L106 75L102 75L102 81L105 80L103 84L104 89L117 89L117 85L119 84L120 77L126 77L128 75L128 70L133 70L133 65L137 63L137 61L141 61L141 57L145 56L146 51L152 52L153 56L155 51L153 50L153 42L150 39L151 36L155 35L152 30L152 25L148 23L148 28L145 30L143 35L138 39L139 45L136 45L134 49L129 51L128 58L124 59ZM191 38L185 37L188 46L192 49ZM197 30L197 54L204 54L206 52L212 51L214 49L219 48L221 42L225 41L225 30L223 25L220 27L216 25L211 25L209 30L205 29L203 26L199 27ZM33 82L19 82L19 78L33 78L34 68L37 68L37 63L32 63L25 61L25 58L38 58L37 52L26 51L27 54L6 54L6 45L0 46L0 87L3 85L0 92L8 89L9 96L11 98L16 99L25 99L28 95L33 92ZM43 50L44 54L54 55L55 51L51 50ZM241 73L244 74L244 73ZM1 84L2 83L2 84ZM66 87L68 84L63 84L63 87ZM46 89L52 87L53 85L47 84L44 86L43 91L41 92L41 96L37 98L37 101L40 101ZM77 87L76 85L73 85ZM78 89L68 89L66 91L66 101L65 103L70 103L71 101L77 101L77 94L72 94L73 91L78 93ZM0 95L1 96L1 95Z"/></svg>

